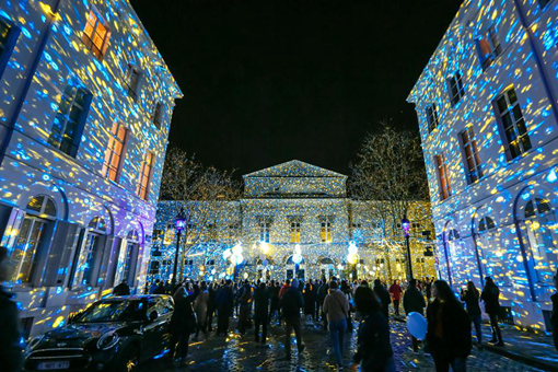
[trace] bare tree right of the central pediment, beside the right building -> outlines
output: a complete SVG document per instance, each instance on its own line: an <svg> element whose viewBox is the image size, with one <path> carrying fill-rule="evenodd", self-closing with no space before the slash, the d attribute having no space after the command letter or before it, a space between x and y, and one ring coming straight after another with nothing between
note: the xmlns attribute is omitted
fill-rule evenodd
<svg viewBox="0 0 558 372"><path fill-rule="evenodd" d="M376 246L383 247L388 263L390 253L403 248L400 221L416 201L428 200L419 139L382 121L380 130L365 137L351 171L351 196L364 207L362 212L375 228ZM387 269L391 277L390 265Z"/></svg>

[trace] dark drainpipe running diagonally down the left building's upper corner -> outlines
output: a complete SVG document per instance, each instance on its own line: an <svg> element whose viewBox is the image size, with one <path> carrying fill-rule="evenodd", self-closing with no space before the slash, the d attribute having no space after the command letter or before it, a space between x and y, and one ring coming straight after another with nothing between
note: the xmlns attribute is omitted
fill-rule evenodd
<svg viewBox="0 0 558 372"><path fill-rule="evenodd" d="M30 69L27 72L27 75L25 78L25 82L23 84L23 90L20 94L20 97L15 102L15 109L13 112L12 117L7 121L7 130L5 130L5 138L2 141L2 144L0 146L0 166L2 165L5 152L8 151L8 146L10 144L13 136L13 131L15 130L15 123L18 121L18 118L20 117L21 111L23 108L23 104L25 103L25 98L27 97L27 94L30 93L31 83L33 82L33 78L35 77L35 73L37 72L38 65L40 63L40 58L43 57L43 53L45 51L46 45L48 43L48 39L50 38L50 32L53 30L53 24L55 23L56 13L58 12L58 9L60 8L61 0L56 0L55 7L51 10L50 14L47 14L47 21L45 26L45 33L43 36L37 40L37 49L35 50L35 55L33 56L33 59L30 65Z"/></svg>

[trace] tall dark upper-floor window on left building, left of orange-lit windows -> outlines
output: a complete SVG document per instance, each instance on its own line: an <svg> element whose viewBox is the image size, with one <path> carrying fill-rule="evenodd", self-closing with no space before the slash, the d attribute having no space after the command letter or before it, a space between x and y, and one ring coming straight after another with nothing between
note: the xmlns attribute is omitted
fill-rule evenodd
<svg viewBox="0 0 558 372"><path fill-rule="evenodd" d="M70 156L78 154L91 98L82 88L66 86L48 137L49 144Z"/></svg>

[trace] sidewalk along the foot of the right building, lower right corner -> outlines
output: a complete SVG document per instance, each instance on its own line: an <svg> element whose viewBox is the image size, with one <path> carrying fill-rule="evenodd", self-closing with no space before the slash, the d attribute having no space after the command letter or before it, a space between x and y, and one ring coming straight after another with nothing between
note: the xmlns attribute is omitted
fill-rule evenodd
<svg viewBox="0 0 558 372"><path fill-rule="evenodd" d="M550 336L546 336L542 332L535 334L521 330L516 326L504 324L501 324L500 327L505 344L503 348L486 344L487 340L492 338L492 332L488 324L483 324L483 340L487 350L540 370L558 371L558 351L556 351ZM473 336L473 342L476 342L475 336Z"/></svg>

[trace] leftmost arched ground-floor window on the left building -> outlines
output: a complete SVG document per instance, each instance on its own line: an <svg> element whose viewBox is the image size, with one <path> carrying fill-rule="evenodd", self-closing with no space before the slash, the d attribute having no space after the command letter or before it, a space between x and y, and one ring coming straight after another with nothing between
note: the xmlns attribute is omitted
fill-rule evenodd
<svg viewBox="0 0 558 372"><path fill-rule="evenodd" d="M42 254L43 239L46 230L56 220L56 205L45 195L38 195L27 204L26 216L20 226L18 240L10 252L15 263L11 282L31 283Z"/></svg>

